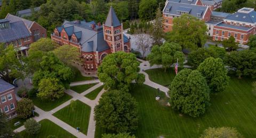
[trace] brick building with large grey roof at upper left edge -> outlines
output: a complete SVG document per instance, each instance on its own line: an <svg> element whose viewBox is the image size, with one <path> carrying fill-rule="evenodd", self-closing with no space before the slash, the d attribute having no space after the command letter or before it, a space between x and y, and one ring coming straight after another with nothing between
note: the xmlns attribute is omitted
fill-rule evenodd
<svg viewBox="0 0 256 138"><path fill-rule="evenodd" d="M46 37L46 29L36 22L12 14L0 20L0 43L6 48L13 45L18 48L17 56L28 55L31 43Z"/></svg>

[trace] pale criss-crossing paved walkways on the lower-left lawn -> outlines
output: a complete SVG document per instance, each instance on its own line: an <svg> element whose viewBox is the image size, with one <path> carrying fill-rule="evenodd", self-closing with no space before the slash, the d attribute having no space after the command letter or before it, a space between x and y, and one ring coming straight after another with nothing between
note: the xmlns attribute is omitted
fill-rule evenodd
<svg viewBox="0 0 256 138"><path fill-rule="evenodd" d="M72 83L71 85L81 85L81 84L90 84L90 83L97 83L100 82L99 80L92 80L92 81L84 81L84 82L76 82L76 83ZM98 101L101 97L101 94L103 92L105 92L105 90L103 89L97 96L97 98L95 100L90 100L86 97L84 97L85 94L90 93L91 91L99 88L101 85L103 85L103 83L99 83L94 85L92 88L82 92L81 94L76 93L72 90L66 90L65 92L67 94L69 94L70 96L72 96L73 98L66 101L65 103L62 103L60 106L52 109L51 111L43 111L42 109L38 108L35 106L35 111L36 113L39 114L39 117L34 117L35 120L37 120L37 122L39 122L40 120L43 119L49 119L51 120L53 123L59 125L60 127L62 127L64 130L68 131L69 133L73 134L76 137L94 137L94 133L95 133L95 122L94 122L94 107L98 104ZM19 89L19 87L17 88ZM17 97L17 99L20 99L19 97ZM62 108L68 106L70 104L71 100L79 100L82 101L84 103L86 103L86 105L89 105L91 107L91 113L90 113L90 120L89 120L89 127L88 127L88 131L87 131L87 135L83 134L83 133L77 133L76 128L68 125L65 122L62 122L62 120L58 119L57 117L54 117L52 114L54 114L55 112L57 112L58 110L61 110ZM16 130L14 130L14 132L21 132L25 130L24 126L21 126L19 128L17 128Z"/></svg>

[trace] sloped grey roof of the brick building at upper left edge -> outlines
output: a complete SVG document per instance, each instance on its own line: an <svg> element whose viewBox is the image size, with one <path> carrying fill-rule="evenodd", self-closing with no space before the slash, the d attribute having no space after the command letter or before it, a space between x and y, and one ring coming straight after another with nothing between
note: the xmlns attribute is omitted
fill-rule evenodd
<svg viewBox="0 0 256 138"><path fill-rule="evenodd" d="M0 29L0 42L9 42L31 36L23 21L10 23L9 29Z"/></svg>

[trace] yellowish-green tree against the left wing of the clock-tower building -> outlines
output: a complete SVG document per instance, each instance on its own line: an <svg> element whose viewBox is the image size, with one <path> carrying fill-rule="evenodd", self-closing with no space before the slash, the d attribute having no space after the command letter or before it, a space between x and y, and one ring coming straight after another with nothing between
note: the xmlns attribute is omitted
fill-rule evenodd
<svg viewBox="0 0 256 138"><path fill-rule="evenodd" d="M66 64L71 64L74 61L77 61L81 54L79 53L79 49L69 45L63 45L56 49L54 49L53 53Z"/></svg>

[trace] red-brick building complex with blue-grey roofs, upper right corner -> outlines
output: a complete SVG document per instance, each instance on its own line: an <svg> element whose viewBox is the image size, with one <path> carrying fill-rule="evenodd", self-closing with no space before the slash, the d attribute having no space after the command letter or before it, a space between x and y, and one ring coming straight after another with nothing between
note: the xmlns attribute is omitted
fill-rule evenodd
<svg viewBox="0 0 256 138"><path fill-rule="evenodd" d="M215 3L211 6L206 3ZM255 35L256 12L253 8L241 8L234 14L215 12L222 1L167 0L163 10L164 31L172 31L173 19L190 14L207 25L207 35L212 40L223 41L233 36L239 44L247 44L249 36Z"/></svg>

